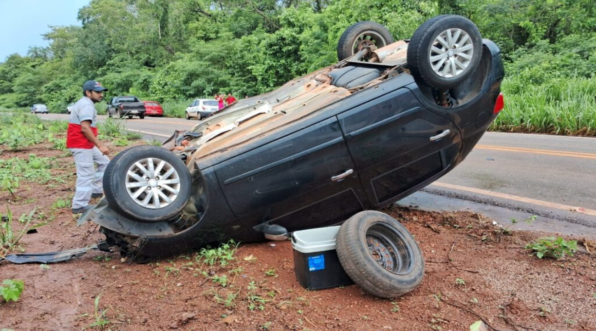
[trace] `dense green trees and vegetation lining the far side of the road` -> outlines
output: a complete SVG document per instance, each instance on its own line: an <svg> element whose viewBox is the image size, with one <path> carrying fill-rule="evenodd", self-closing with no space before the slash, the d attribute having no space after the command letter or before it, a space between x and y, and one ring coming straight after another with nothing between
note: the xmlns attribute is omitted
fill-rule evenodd
<svg viewBox="0 0 596 331"><path fill-rule="evenodd" d="M51 27L48 48L0 64L0 107L44 102L64 112L87 79L108 86L108 96L179 104L213 93L255 95L334 63L339 36L356 21L378 21L405 39L444 13L470 18L502 49L516 118L498 127L595 134L593 98L567 102L582 103L580 110L560 108L571 97L566 90L594 95L592 0L92 0L79 11L82 27ZM553 89L563 94L545 100ZM526 99L551 108L538 127L529 124L536 118ZM557 129L560 111L587 120Z"/></svg>

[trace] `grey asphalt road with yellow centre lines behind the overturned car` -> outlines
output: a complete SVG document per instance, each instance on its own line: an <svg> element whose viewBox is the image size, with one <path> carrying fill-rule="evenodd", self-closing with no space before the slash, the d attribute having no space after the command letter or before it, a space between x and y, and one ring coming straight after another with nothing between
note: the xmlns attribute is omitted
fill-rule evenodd
<svg viewBox="0 0 596 331"><path fill-rule="evenodd" d="M68 118L66 114L39 116ZM128 129L162 141L174 130L191 129L198 123L157 117L123 121ZM583 215L595 219L591 213L596 213L596 138L488 132L466 160L427 191L464 199L483 196L475 200L538 214L559 210L567 214L566 219Z"/></svg>

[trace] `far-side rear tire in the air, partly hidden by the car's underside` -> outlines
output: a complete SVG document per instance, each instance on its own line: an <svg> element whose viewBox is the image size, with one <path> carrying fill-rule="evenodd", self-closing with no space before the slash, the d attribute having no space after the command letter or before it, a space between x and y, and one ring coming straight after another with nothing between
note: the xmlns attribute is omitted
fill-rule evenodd
<svg viewBox="0 0 596 331"><path fill-rule="evenodd" d="M359 45L373 43L377 48L393 43L393 36L386 27L373 21L352 24L337 42L337 59L349 58L359 51Z"/></svg>

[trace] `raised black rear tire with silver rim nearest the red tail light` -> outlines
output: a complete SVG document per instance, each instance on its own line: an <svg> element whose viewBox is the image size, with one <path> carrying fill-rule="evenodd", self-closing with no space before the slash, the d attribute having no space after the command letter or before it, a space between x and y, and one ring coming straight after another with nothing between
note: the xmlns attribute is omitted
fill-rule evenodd
<svg viewBox="0 0 596 331"><path fill-rule="evenodd" d="M448 30L449 35L451 35L451 30L455 30L456 35L451 35L456 37L452 46L449 46L451 42L444 38L441 38L441 40L444 40L448 45L438 41L439 35L447 33ZM466 35L468 39L463 41ZM468 44L468 40L471 40L470 44ZM458 41L463 42L463 44L458 43ZM433 48L433 46L435 47ZM468 46L471 46L471 48L468 48ZM468 49L464 52L462 51L464 48ZM431 53L432 49L438 49L442 53L438 51ZM437 58L437 60L431 61L432 57L442 55L445 55L445 58ZM440 15L430 18L418 27L408 44L407 58L412 76L435 89L451 89L462 83L476 70L481 57L482 37L478 28L472 21L459 15ZM435 69L433 69L433 64ZM440 73L435 70L440 71Z"/></svg>

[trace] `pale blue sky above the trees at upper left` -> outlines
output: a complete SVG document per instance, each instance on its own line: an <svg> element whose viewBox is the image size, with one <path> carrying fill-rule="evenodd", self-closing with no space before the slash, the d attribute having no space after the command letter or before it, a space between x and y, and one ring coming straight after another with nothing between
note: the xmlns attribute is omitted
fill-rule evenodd
<svg viewBox="0 0 596 331"><path fill-rule="evenodd" d="M30 46L49 45L48 26L80 26L79 9L90 0L0 0L0 63L10 54L27 55Z"/></svg>

